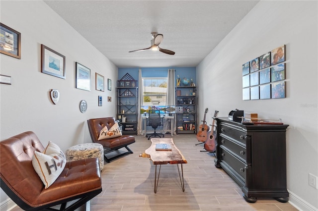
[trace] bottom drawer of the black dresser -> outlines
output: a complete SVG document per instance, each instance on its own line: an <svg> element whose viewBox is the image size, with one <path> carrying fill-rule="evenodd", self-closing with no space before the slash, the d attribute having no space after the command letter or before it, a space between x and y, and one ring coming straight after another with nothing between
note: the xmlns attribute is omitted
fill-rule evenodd
<svg viewBox="0 0 318 211"><path fill-rule="evenodd" d="M240 175L241 179L245 182L246 179L246 169L245 163L236 158L231 153L229 153L226 149L221 146L221 159L223 162L226 162L231 168L236 172L236 174Z"/></svg>

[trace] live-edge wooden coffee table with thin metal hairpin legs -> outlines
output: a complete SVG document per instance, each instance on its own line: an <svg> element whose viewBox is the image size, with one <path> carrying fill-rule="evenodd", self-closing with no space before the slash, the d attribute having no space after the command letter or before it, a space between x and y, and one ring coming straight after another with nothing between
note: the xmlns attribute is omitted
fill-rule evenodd
<svg viewBox="0 0 318 211"><path fill-rule="evenodd" d="M139 157L150 158L153 161L154 165L156 165L155 188L154 188L155 193L157 193L161 165L168 164L168 163L169 164L177 164L181 188L182 188L182 191L184 192L184 179L183 179L183 166L182 166L182 164L187 163L186 159L183 157L183 155L178 150L178 148L176 148L172 138L152 138L151 142L152 142L152 145L145 151L145 153L140 154ZM157 143L170 144L171 151L156 151L156 144ZM182 179L181 179L181 174L180 174L180 170L179 170L179 164L181 165ZM158 177L157 177L157 165L160 165Z"/></svg>

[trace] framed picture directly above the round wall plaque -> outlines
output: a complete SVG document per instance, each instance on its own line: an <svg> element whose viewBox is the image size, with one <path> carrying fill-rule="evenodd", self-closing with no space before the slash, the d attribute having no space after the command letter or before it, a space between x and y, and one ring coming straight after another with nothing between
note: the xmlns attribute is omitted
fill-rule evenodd
<svg viewBox="0 0 318 211"><path fill-rule="evenodd" d="M90 69L76 62L76 88L90 91Z"/></svg>

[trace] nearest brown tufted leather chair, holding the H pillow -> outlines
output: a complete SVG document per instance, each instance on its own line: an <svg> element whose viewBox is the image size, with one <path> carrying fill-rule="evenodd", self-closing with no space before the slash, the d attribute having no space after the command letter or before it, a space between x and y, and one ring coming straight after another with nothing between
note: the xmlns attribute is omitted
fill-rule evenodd
<svg viewBox="0 0 318 211"><path fill-rule="evenodd" d="M73 211L97 196L101 191L98 158L67 162L57 180L44 188L32 165L34 151L44 147L31 131L21 133L0 142L1 189L21 209L28 211ZM67 202L79 200L67 207Z"/></svg>

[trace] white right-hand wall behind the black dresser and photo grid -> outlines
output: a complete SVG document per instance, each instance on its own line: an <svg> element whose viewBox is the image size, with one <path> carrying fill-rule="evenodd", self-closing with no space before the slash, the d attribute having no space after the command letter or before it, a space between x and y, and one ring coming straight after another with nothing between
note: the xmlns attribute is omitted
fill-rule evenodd
<svg viewBox="0 0 318 211"><path fill-rule="evenodd" d="M308 182L309 173L318 176L317 8L317 1L260 1L197 67L201 119L205 107L211 116L239 108L290 125L287 188L302 210L318 210L318 190ZM242 64L281 45L287 98L242 101Z"/></svg>

